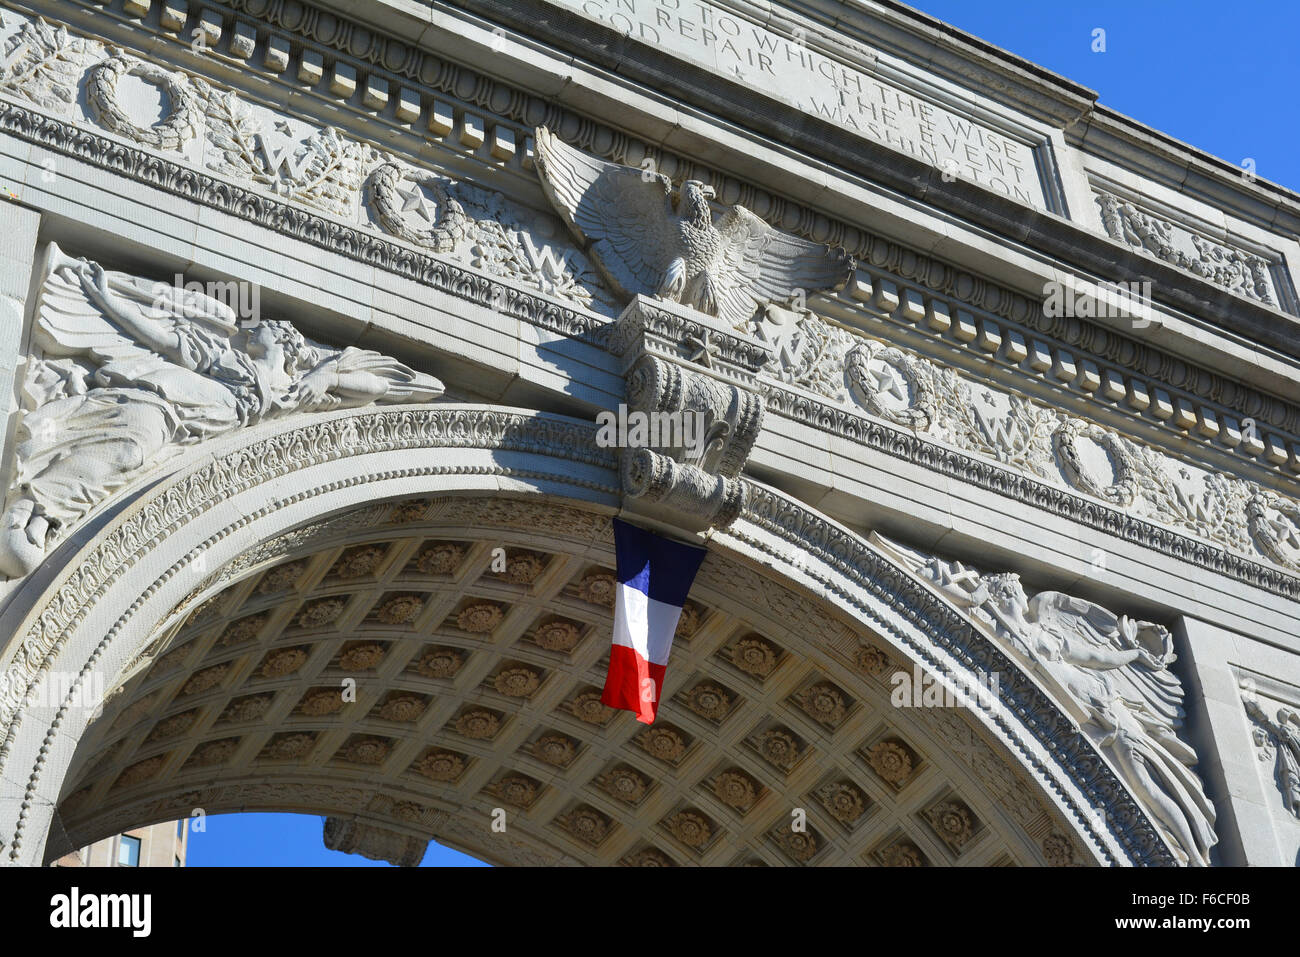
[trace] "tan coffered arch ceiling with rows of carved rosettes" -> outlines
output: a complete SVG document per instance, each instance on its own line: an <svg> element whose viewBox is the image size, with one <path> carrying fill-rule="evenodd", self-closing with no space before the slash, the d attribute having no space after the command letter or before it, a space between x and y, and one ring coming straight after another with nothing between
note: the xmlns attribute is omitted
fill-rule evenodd
<svg viewBox="0 0 1300 957"><path fill-rule="evenodd" d="M892 707L910 663L718 547L651 727L599 703L602 512L373 503L217 579L113 683L47 856L202 809L330 815L335 844L394 861L429 837L495 863L1091 861L968 710Z"/></svg>

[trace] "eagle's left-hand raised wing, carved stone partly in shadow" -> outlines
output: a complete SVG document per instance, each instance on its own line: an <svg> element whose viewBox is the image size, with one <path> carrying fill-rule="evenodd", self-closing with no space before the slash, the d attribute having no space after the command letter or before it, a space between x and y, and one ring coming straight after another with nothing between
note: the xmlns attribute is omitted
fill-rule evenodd
<svg viewBox="0 0 1300 957"><path fill-rule="evenodd" d="M668 177L588 156L545 126L534 143L546 198L614 290L654 295L681 255Z"/></svg>

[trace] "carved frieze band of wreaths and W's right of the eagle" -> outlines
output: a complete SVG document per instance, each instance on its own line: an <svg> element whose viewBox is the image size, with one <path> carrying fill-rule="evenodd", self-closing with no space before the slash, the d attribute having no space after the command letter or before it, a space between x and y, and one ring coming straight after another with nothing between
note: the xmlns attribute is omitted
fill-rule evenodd
<svg viewBox="0 0 1300 957"><path fill-rule="evenodd" d="M783 324L779 335L768 333L775 335L774 372L781 378L1124 514L1300 571L1300 503L1280 493L1183 464L1112 429L976 384L812 313L796 320ZM768 398L772 410L796 408L776 393Z"/></svg>

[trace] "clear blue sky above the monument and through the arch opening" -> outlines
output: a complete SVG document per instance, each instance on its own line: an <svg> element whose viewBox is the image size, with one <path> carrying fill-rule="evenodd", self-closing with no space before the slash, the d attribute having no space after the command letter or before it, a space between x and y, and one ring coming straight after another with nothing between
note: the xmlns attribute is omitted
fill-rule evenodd
<svg viewBox="0 0 1300 957"><path fill-rule="evenodd" d="M923 0L918 9L1100 94L1101 103L1300 190L1300 3ZM1105 52L1093 52L1093 30ZM429 845L421 866L477 865ZM321 818L228 814L190 836L190 866L387 866L326 850Z"/></svg>

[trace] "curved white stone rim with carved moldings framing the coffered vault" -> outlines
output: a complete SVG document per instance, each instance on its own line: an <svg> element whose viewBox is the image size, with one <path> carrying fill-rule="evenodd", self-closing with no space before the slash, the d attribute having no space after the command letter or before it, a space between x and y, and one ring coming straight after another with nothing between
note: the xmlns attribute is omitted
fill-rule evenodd
<svg viewBox="0 0 1300 957"><path fill-rule="evenodd" d="M302 416L190 451L164 477L118 493L107 520L56 550L53 567L4 611L14 640L0 662L0 859L42 863L91 719L86 709L22 707L34 675L118 675L179 603L214 590L216 571L285 532L368 503L541 497L612 515L618 477L593 434L594 425L581 420L452 403ZM746 514L715 532L710 547L864 624L905 667L918 662L950 680L1000 670L997 706L968 714L1072 831L1084 857L1174 861L1149 815L1060 706L861 536L753 485Z"/></svg>

